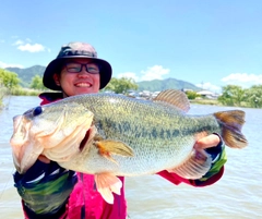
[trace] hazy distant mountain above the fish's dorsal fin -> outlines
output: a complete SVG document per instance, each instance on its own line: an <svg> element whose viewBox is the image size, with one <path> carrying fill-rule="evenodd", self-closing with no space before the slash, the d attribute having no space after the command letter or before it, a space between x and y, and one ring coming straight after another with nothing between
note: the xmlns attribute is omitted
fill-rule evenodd
<svg viewBox="0 0 262 219"><path fill-rule="evenodd" d="M139 82L139 92L150 90L150 92L160 92L164 89L192 89L194 92L201 90L200 87L195 85L176 80L176 78L167 78L167 80L153 80L153 81L143 81Z"/></svg>

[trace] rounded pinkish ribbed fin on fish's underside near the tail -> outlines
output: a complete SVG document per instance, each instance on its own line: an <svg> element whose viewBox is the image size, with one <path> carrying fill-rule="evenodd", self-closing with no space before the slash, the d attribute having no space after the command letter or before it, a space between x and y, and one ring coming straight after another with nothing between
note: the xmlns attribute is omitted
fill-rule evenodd
<svg viewBox="0 0 262 219"><path fill-rule="evenodd" d="M174 172L184 179L200 179L211 168L212 157L204 150L193 150L190 158L180 166L169 169L169 172Z"/></svg>

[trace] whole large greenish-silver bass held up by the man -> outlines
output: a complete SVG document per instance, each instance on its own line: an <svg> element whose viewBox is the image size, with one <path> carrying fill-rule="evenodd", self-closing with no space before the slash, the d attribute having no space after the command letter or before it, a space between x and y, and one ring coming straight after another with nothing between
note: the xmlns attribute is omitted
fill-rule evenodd
<svg viewBox="0 0 262 219"><path fill-rule="evenodd" d="M153 100L87 94L36 107L14 118L14 163L25 172L41 154L61 167L95 174L97 190L112 203L121 182L116 175L162 170L199 179L212 158L194 143L211 133L231 148L242 148L245 112L189 115L182 92L166 90Z"/></svg>

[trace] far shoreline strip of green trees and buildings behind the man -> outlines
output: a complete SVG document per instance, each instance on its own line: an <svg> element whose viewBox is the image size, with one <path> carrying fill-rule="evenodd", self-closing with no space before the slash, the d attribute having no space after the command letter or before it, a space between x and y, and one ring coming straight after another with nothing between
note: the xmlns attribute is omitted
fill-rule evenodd
<svg viewBox="0 0 262 219"><path fill-rule="evenodd" d="M102 92L123 94L133 98L152 99L159 93L151 92L157 89L156 86L153 85L148 86L146 90L136 92L139 90L139 85L134 80L112 77ZM183 86L183 88L178 88L180 86ZM262 84L253 85L250 88L243 88L238 85L227 85L222 87L221 94L214 94L209 90L196 92L184 88L184 85L177 86L172 84L171 87L183 90L191 104L262 109ZM159 88L159 90L169 88L166 86ZM28 80L25 83L16 73L0 69L0 109L3 108L4 96L38 96L43 92L52 90L44 86L43 77L38 74L32 77L31 83Z"/></svg>

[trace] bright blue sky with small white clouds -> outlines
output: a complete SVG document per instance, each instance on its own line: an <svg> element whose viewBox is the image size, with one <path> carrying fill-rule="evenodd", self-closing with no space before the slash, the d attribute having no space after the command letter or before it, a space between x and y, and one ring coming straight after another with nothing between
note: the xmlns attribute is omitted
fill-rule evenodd
<svg viewBox="0 0 262 219"><path fill-rule="evenodd" d="M0 68L47 65L61 45L86 41L115 77L249 87L262 84L261 22L261 0L9 0Z"/></svg>

